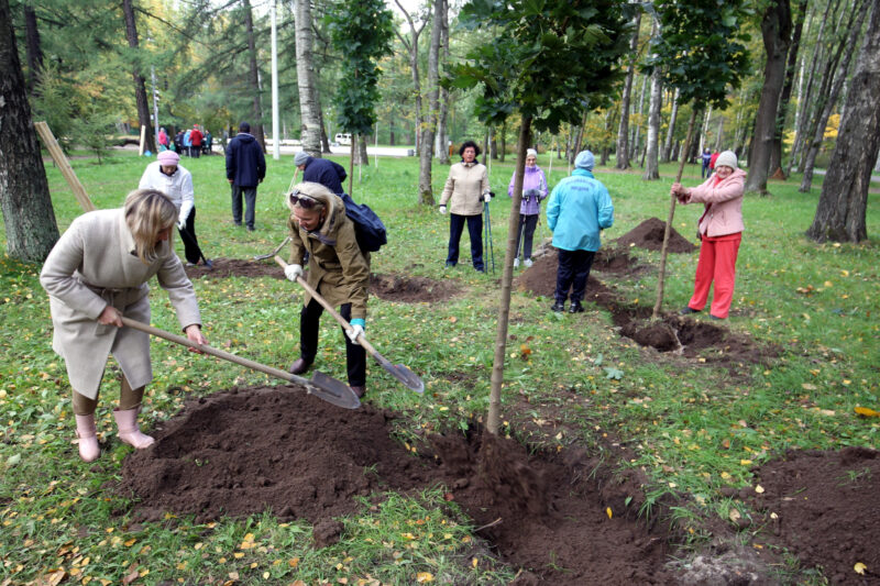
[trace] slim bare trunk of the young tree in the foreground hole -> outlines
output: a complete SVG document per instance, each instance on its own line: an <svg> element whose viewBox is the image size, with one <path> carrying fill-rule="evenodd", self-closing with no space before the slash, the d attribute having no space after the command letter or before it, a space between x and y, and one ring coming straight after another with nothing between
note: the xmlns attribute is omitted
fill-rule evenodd
<svg viewBox="0 0 880 586"><path fill-rule="evenodd" d="M486 429L490 433L498 433L501 427L502 387L504 386L504 360L507 355L507 323L510 318L510 291L514 281L514 258L516 258L516 236L519 226L519 206L522 202L522 178L526 174L526 150L530 143L531 118L522 117L517 144L516 179L514 197L510 200L510 214L507 220L507 250L504 255L504 273L502 275L502 295L498 305L498 324L495 331L495 355L492 361L492 388L488 396L488 413Z"/></svg>

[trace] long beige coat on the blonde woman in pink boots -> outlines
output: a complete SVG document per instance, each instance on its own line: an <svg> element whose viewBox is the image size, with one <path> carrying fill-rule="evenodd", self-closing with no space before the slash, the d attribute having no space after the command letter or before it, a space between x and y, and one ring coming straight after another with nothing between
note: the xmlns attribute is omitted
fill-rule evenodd
<svg viewBox="0 0 880 586"><path fill-rule="evenodd" d="M193 284L170 242L162 243L158 258L148 265L133 251L134 240L122 209L92 211L74 220L40 273L55 327L52 347L67 363L70 386L90 399L98 395L110 353L132 388L153 379L150 336L98 323L108 305L127 318L148 323L146 281L155 275L168 291L180 328L201 323Z"/></svg>

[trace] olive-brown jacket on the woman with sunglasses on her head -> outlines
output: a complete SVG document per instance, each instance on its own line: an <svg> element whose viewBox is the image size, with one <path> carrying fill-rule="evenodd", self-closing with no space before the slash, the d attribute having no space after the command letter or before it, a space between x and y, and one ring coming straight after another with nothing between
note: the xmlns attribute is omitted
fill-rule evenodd
<svg viewBox="0 0 880 586"><path fill-rule="evenodd" d="M287 221L290 229L290 256L288 262L302 264L309 253L306 280L328 303L339 307L351 303L351 319L366 319L367 287L370 285L370 253L361 252L354 236L354 224L345 215L345 204L332 196L327 219L315 232L299 226L293 214ZM306 295L305 305L311 300Z"/></svg>

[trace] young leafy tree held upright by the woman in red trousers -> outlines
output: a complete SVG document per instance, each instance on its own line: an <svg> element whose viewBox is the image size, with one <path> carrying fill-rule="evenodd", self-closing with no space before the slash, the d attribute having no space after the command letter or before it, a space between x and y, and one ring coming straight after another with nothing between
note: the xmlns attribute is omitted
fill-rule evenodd
<svg viewBox="0 0 880 586"><path fill-rule="evenodd" d="M718 4L714 0L658 0L653 7L660 22L660 35L654 37L646 69L651 73L659 70L663 85L679 90L681 104L693 104L682 151L688 153L697 112L706 106L726 108L727 96L732 89L739 87L748 68L746 43L749 35L744 26L745 2L737 0ZM681 181L685 161L686 157L682 156L675 183ZM653 318L659 314L663 302L667 246L675 214L675 196L670 199Z"/></svg>

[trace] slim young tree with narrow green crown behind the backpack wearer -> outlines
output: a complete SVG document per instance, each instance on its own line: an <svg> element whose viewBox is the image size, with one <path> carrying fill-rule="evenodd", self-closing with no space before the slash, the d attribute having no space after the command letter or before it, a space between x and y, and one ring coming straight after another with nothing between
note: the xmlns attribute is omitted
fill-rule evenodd
<svg viewBox="0 0 880 586"><path fill-rule="evenodd" d="M382 0L344 0L331 7L327 24L337 51L343 55L342 77L336 95L337 121L345 132L370 134L376 121L375 103L380 98L377 64L392 52L394 19ZM351 170L355 147L356 141L352 136ZM352 175L350 172L350 194Z"/></svg>

